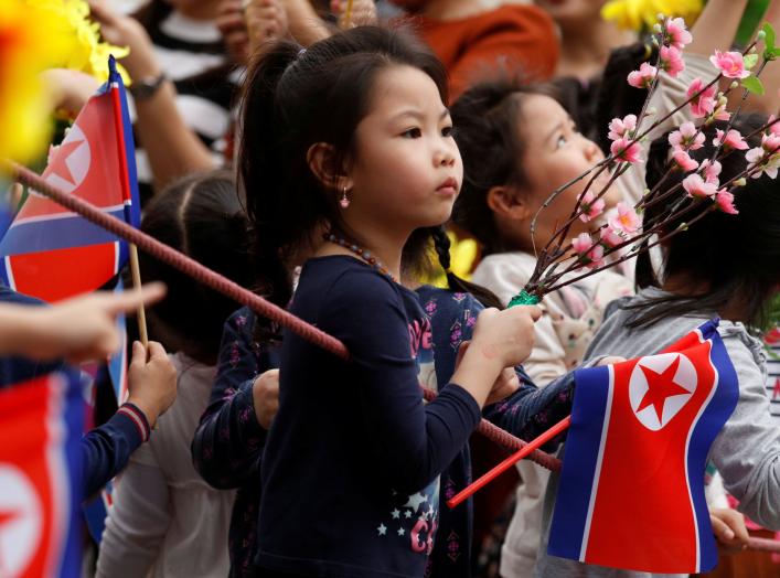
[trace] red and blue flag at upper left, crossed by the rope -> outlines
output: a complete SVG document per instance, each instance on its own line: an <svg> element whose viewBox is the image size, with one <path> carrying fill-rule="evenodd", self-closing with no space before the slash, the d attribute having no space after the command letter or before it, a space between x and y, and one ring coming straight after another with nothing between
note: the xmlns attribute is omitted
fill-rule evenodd
<svg viewBox="0 0 780 578"><path fill-rule="evenodd" d="M113 57L108 82L82 109L42 176L138 226L130 117ZM19 292L58 301L106 283L127 255L116 236L31 191L0 242L0 279Z"/></svg>

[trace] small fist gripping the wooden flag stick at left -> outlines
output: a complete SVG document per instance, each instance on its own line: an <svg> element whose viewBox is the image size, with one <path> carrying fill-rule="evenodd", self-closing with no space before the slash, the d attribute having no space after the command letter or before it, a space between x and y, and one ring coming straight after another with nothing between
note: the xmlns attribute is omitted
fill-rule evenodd
<svg viewBox="0 0 780 578"><path fill-rule="evenodd" d="M162 345L150 341L143 347L140 341L132 344L132 361L127 371L128 402L137 405L154 427L177 398L177 370Z"/></svg>

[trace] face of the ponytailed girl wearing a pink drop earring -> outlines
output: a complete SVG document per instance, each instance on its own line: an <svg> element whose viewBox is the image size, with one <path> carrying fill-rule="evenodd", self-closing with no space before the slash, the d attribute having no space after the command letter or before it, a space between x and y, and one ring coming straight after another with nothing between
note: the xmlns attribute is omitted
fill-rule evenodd
<svg viewBox="0 0 780 578"><path fill-rule="evenodd" d="M463 164L449 111L427 74L410 66L377 74L354 150L348 169L351 203L343 211L350 228L408 235L449 218Z"/></svg>

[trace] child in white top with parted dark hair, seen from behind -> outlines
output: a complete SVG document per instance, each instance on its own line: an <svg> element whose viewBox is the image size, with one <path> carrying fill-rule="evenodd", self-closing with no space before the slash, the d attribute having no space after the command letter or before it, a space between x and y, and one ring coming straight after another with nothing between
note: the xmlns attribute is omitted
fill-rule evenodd
<svg viewBox="0 0 780 578"><path fill-rule="evenodd" d="M146 206L141 228L229 279L250 278L246 216L225 172L171 185ZM149 310L149 327L175 352L179 397L117 484L97 576L225 576L234 492L206 485L189 448L235 303L152 257L141 257L141 271L169 288L169 298Z"/></svg>

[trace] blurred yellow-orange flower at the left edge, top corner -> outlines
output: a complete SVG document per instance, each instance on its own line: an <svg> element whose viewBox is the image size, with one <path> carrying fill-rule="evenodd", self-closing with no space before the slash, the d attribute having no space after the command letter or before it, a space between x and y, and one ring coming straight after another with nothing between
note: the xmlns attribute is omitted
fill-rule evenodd
<svg viewBox="0 0 780 578"><path fill-rule="evenodd" d="M45 150L50 105L39 73L72 46L53 14L0 0L0 158L26 162Z"/></svg>

